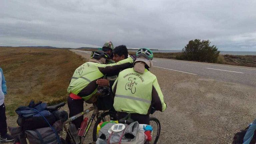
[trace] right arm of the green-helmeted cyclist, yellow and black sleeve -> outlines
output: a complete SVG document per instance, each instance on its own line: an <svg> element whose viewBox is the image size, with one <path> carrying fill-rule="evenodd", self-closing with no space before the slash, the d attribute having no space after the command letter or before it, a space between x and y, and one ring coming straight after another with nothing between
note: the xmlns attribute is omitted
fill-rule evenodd
<svg viewBox="0 0 256 144"><path fill-rule="evenodd" d="M167 107L166 103L164 102L164 96L157 82L157 79L154 80L153 86L152 86L151 104L152 104L152 107L154 107L156 110L159 110L161 112L165 111Z"/></svg>

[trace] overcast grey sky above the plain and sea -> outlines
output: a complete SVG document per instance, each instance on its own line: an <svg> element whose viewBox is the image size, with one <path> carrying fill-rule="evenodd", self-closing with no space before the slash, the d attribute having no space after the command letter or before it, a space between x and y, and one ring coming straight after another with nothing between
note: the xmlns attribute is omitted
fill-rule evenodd
<svg viewBox="0 0 256 144"><path fill-rule="evenodd" d="M0 0L0 46L256 51L256 0Z"/></svg>

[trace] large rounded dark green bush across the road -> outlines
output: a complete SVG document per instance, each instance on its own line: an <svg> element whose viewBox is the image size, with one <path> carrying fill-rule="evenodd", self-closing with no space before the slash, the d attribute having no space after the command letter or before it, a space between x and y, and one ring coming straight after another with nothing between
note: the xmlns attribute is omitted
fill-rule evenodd
<svg viewBox="0 0 256 144"><path fill-rule="evenodd" d="M218 61L218 56L220 51L213 45L210 46L209 40L191 40L182 49L182 55L176 57L177 59L190 60L190 61L201 61L216 63Z"/></svg>

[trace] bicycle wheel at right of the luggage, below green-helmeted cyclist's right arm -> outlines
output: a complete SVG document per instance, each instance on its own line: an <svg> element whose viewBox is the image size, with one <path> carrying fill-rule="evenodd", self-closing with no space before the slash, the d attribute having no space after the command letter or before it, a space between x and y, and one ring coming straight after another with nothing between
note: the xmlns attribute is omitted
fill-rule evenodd
<svg viewBox="0 0 256 144"><path fill-rule="evenodd" d="M149 143L156 144L161 132L160 121L155 117L150 117L149 124L153 127L152 140Z"/></svg>

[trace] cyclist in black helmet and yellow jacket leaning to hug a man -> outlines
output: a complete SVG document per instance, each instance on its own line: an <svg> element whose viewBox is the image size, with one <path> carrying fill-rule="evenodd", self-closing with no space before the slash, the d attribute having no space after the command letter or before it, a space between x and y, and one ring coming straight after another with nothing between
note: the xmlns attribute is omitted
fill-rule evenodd
<svg viewBox="0 0 256 144"><path fill-rule="evenodd" d="M129 57L114 64L106 64L110 59L109 55L103 51L93 51L88 62L79 66L70 81L67 89L69 117L83 111L83 103L96 102L96 92L98 85L96 81L106 76L117 75L120 70L133 66L135 57ZM83 117L73 121L78 129Z"/></svg>

